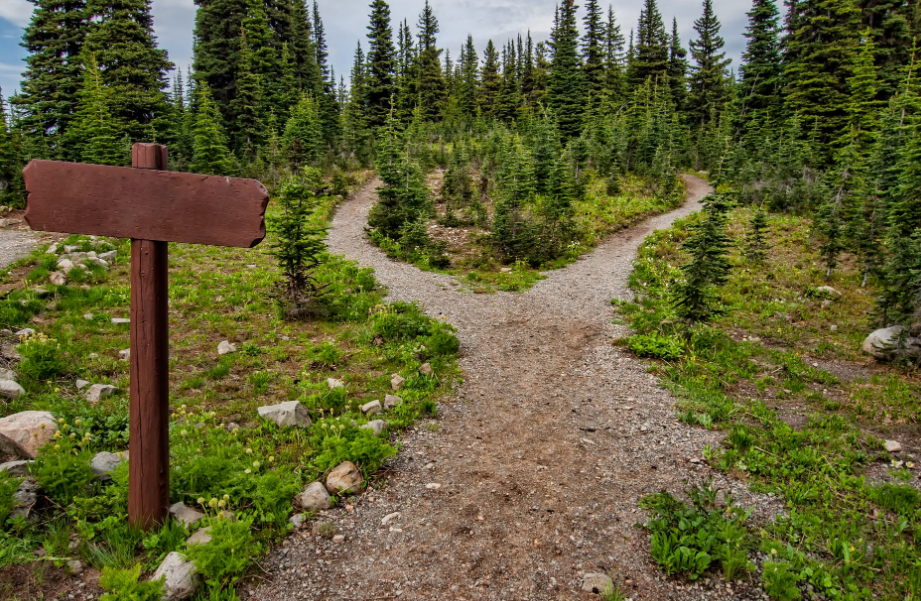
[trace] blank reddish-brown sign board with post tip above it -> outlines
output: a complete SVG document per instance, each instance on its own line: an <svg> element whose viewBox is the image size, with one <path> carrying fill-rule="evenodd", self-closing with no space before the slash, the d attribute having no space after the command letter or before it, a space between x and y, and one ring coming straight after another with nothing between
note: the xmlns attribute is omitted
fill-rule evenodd
<svg viewBox="0 0 921 601"><path fill-rule="evenodd" d="M132 149L131 169L32 161L22 174L33 230L252 248L265 238L269 195L251 179L166 171L166 148ZM156 147L163 150L156 150Z"/></svg>

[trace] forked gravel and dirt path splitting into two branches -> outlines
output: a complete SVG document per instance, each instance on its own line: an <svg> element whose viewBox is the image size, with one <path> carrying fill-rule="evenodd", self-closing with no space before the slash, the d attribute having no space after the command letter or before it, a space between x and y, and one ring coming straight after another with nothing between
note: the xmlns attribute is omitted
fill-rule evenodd
<svg viewBox="0 0 921 601"><path fill-rule="evenodd" d="M419 301L456 325L465 382L437 432L407 436L384 490L329 512L345 541L298 533L268 559L249 598L597 599L579 590L590 572L615 576L633 599L762 598L748 585L665 580L634 528L641 496L711 475L690 460L716 442L679 422L671 395L611 344L625 329L611 324L610 300L630 296L639 244L710 191L686 180L684 207L615 235L523 294L458 293L450 277L372 247L364 226L375 182L345 204L331 249L374 267L391 299Z"/></svg>

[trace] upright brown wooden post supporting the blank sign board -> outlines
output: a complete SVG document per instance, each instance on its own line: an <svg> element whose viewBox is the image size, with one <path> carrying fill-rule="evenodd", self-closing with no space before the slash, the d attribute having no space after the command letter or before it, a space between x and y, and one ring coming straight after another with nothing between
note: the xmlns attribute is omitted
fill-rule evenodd
<svg viewBox="0 0 921 601"><path fill-rule="evenodd" d="M167 150L135 144L136 169L165 170ZM169 245L131 241L128 520L149 530L169 507Z"/></svg>

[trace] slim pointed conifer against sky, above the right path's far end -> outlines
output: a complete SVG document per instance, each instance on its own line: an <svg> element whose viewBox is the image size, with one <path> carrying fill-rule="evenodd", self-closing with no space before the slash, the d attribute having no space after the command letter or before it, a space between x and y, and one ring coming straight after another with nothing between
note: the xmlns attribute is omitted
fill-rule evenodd
<svg viewBox="0 0 921 601"><path fill-rule="evenodd" d="M720 22L713 12L713 0L704 0L703 15L694 21L699 36L691 41L689 107L693 121L703 125L712 115L722 112L726 104L727 67L731 61L722 52L726 42L720 36Z"/></svg>

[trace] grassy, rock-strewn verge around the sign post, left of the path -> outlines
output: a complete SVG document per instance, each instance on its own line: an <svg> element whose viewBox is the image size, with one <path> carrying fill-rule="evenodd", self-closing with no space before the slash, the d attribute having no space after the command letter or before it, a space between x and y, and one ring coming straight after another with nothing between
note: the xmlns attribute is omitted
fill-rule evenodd
<svg viewBox="0 0 921 601"><path fill-rule="evenodd" d="M320 199L314 219L326 221L334 204ZM4 515L19 479L0 476L4 599L53 593L42 583L71 569L72 560L106 570L108 586L127 594L171 551L188 555L202 573L198 599L233 599L234 582L290 531L296 493L346 460L377 485L375 473L399 447L396 435L434 418L459 375L450 326L415 306L384 303L372 270L330 256L319 275L327 288L317 316L286 321L273 300L274 259L264 251L171 245L171 502L203 512L197 526L210 526L212 541L188 545L195 528L174 520L158 533L137 532L126 523L127 465L109 482L89 469L96 453L128 445L129 364L118 351L129 346L129 326L112 319L128 317L130 248L82 236L64 244L113 248L118 258L109 271L77 269L67 285L52 286L47 277L58 257L41 249L4 276L0 325L39 335L18 345L23 361L14 368L26 393L0 403L0 417L46 410L60 428L32 468L41 489L29 519ZM237 352L218 356L222 340ZM424 363L431 375L420 371ZM395 393L403 403L383 416L363 415L362 404L393 392L395 373L405 378ZM78 378L118 392L91 404L76 389ZM328 378L344 387L331 389ZM258 417L258 407L289 400L307 407L311 427L280 429ZM388 433L361 428L373 419L386 420ZM138 574L109 572L136 565Z"/></svg>

